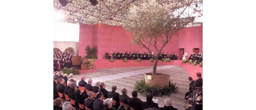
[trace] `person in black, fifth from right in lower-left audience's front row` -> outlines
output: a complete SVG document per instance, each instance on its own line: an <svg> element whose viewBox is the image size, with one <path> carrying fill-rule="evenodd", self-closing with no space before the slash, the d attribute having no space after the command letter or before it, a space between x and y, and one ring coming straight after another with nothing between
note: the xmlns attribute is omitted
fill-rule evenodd
<svg viewBox="0 0 256 110"><path fill-rule="evenodd" d="M112 91L108 92L108 98L113 98L113 100L116 101L116 105L113 105L114 108L118 108L119 107L119 96L120 94L116 92L116 85L112 86Z"/></svg>

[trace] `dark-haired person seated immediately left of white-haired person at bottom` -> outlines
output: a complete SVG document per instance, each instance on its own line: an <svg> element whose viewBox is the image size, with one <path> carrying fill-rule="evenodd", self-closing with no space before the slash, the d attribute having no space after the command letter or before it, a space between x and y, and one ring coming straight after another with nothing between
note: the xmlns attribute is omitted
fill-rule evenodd
<svg viewBox="0 0 256 110"><path fill-rule="evenodd" d="M103 109L103 93L98 92L96 94L96 100L93 102L94 110L102 110Z"/></svg>

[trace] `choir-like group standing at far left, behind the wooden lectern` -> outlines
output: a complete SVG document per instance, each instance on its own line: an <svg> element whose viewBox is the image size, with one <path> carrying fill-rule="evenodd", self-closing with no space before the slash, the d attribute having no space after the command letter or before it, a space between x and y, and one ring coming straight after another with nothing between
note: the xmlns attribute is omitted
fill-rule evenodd
<svg viewBox="0 0 256 110"><path fill-rule="evenodd" d="M53 69L54 71L60 71L64 67L70 68L72 66L73 52L54 52L53 53Z"/></svg>

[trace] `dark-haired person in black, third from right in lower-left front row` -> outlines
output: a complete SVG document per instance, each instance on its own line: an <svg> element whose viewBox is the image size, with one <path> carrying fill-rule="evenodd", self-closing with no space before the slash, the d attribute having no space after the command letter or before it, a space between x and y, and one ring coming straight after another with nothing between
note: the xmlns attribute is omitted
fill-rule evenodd
<svg viewBox="0 0 256 110"><path fill-rule="evenodd" d="M130 105L131 108L134 110L143 110L142 107L142 101L137 98L138 93L137 91L132 91L132 98L127 99L128 104Z"/></svg>

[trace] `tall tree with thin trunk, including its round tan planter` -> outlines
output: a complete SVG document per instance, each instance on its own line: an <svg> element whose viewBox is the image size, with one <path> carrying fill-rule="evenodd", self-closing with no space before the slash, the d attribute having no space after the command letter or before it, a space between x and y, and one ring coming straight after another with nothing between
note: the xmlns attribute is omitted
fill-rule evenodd
<svg viewBox="0 0 256 110"><path fill-rule="evenodd" d="M187 8L192 2L181 0L179 3ZM124 16L122 25L131 32L133 44L140 45L153 56L152 49L156 53L162 52L173 35L194 21L194 17L183 13L186 8L177 8L182 8L182 5L177 6L175 1L163 3L158 0L132 5ZM158 57L159 54L154 55L153 72L145 74L145 82L150 85L168 85L169 75L157 73Z"/></svg>

